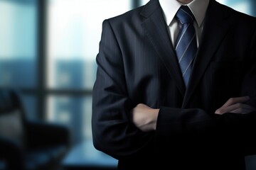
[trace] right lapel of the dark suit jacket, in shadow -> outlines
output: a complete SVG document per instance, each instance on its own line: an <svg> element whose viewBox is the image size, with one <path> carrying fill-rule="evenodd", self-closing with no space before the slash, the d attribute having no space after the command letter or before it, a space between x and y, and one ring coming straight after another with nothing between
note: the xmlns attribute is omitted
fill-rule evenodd
<svg viewBox="0 0 256 170"><path fill-rule="evenodd" d="M226 13L221 8L222 6L216 1L210 1L206 13L201 45L199 46L198 55L193 64L191 81L188 84L188 89L185 94L183 108L186 108L196 86L198 86L199 81L203 77L203 73L210 63L211 58L215 51L218 50L218 46L230 28L230 20L228 20L229 13Z"/></svg>

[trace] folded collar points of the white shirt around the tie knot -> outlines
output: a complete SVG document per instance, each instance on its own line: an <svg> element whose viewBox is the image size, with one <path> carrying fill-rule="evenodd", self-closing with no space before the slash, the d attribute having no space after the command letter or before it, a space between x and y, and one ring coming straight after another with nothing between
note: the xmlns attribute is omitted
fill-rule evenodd
<svg viewBox="0 0 256 170"><path fill-rule="evenodd" d="M196 18L198 27L201 27L201 24L203 23L209 1L210 0L193 0L191 3L187 4ZM173 21L178 8L180 8L183 4L176 0L159 0L159 3L164 11L164 18L166 20L167 26L169 26L171 21Z"/></svg>

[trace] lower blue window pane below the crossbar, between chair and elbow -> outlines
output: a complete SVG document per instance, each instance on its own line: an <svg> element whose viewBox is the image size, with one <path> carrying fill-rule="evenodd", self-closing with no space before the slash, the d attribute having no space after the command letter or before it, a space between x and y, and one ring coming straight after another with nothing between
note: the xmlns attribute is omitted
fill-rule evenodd
<svg viewBox="0 0 256 170"><path fill-rule="evenodd" d="M48 120L63 123L70 128L73 144L92 140L90 95L49 95Z"/></svg>

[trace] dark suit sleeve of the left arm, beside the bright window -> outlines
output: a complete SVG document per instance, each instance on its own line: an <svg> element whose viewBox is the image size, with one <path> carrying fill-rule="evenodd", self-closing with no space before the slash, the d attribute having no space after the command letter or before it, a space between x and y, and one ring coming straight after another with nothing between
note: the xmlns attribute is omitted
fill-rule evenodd
<svg viewBox="0 0 256 170"><path fill-rule="evenodd" d="M116 159L132 157L152 140L129 120L134 108L127 95L122 51L108 20L102 24L100 50L96 57L97 78L92 92L93 144Z"/></svg>

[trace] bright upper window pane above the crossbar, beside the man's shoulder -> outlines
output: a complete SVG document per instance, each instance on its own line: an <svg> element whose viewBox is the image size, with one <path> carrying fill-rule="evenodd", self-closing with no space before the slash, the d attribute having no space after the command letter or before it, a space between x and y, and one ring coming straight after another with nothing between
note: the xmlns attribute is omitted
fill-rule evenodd
<svg viewBox="0 0 256 170"><path fill-rule="evenodd" d="M50 0L48 87L92 89L102 21L129 8L129 1Z"/></svg>

